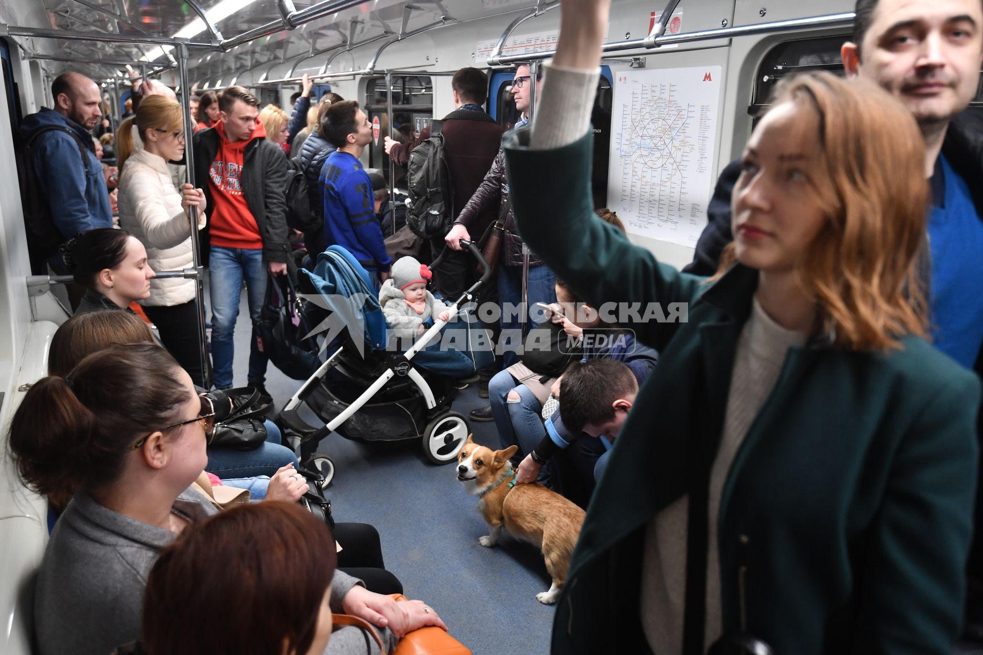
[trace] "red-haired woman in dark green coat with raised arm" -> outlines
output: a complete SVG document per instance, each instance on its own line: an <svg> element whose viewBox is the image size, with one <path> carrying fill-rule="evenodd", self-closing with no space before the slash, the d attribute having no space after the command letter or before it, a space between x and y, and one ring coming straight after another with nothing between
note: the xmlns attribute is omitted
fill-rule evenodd
<svg viewBox="0 0 983 655"><path fill-rule="evenodd" d="M914 120L860 82L783 83L734 190L736 263L681 274L591 211L609 0L563 4L536 122L505 150L519 230L591 304L687 302L688 322L633 326L662 356L595 492L552 652L697 655L743 632L780 655L948 655L980 388L924 340Z"/></svg>

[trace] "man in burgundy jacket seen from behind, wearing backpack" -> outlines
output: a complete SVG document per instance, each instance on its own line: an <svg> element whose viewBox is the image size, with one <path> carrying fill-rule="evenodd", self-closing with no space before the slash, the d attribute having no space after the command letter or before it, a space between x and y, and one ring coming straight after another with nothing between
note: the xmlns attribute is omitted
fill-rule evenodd
<svg viewBox="0 0 983 655"><path fill-rule="evenodd" d="M476 68L462 68L454 74L456 110L443 117L444 152L450 166L450 182L454 190L454 214L474 195L485 174L492 167L504 128L482 109L488 97L488 78ZM413 149L430 138L430 128L424 129L410 143L399 143L385 137L385 151L397 166L406 166ZM486 204L476 225L488 227L498 216L498 207ZM483 232L475 235L481 238ZM444 235L431 241L434 258L444 247ZM474 280L475 261L470 253L449 250L440 267L434 271L434 286L449 300L457 300Z"/></svg>

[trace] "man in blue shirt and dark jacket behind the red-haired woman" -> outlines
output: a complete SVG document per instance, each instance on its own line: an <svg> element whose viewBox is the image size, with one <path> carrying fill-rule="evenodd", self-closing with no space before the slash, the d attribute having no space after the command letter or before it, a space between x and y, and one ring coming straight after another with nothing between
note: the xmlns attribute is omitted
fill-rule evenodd
<svg viewBox="0 0 983 655"><path fill-rule="evenodd" d="M927 247L933 340L983 376L983 297L969 286L983 276L983 120L966 109L983 59L983 26L971 18L979 16L980 2L940 6L931 0L858 0L855 11L853 40L841 50L846 74L894 93L925 137L925 172L932 187ZM708 207L707 228L684 271L717 271L723 248L733 240L730 195L740 173L736 161L723 170ZM978 526L983 519L979 498L976 512ZM969 573L967 636L983 642L983 542L978 530Z"/></svg>

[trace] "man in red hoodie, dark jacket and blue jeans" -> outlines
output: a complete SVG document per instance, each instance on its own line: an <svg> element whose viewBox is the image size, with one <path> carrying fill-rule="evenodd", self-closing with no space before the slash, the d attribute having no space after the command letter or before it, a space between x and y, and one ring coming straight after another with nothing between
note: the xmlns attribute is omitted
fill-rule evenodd
<svg viewBox="0 0 983 655"><path fill-rule="evenodd" d="M232 387L232 335L243 281L253 320L248 381L271 402L263 387L268 357L260 351L256 324L266 292L267 271L287 272L287 165L283 149L265 138L260 101L242 86L218 96L219 122L195 135L195 177L208 200L211 356L215 387Z"/></svg>

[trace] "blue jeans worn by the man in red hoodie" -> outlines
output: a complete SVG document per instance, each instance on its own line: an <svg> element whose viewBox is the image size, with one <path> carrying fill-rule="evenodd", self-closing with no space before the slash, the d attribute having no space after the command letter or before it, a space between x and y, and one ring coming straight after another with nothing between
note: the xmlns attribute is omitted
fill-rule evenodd
<svg viewBox="0 0 983 655"><path fill-rule="evenodd" d="M257 347L256 324L260 321L262 303L266 300L266 264L262 250L239 247L211 246L208 280L211 299L211 360L214 366L214 382L217 389L228 389L232 384L232 335L239 316L239 299L243 281L246 282L249 314L253 321L253 339L250 343L250 384L262 384L266 378L266 362L269 358Z"/></svg>

